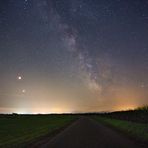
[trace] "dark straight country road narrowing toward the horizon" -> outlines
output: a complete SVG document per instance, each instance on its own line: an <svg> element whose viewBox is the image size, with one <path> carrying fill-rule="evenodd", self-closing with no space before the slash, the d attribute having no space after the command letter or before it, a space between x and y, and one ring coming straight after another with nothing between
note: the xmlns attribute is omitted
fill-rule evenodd
<svg viewBox="0 0 148 148"><path fill-rule="evenodd" d="M81 117L50 140L36 144L36 148L143 148L125 135L87 117Z"/></svg>

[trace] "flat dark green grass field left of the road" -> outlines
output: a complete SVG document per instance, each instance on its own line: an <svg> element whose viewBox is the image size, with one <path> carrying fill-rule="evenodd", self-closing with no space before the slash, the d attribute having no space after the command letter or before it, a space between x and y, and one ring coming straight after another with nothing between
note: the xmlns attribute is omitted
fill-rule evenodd
<svg viewBox="0 0 148 148"><path fill-rule="evenodd" d="M0 147L26 145L74 119L72 115L0 115Z"/></svg>

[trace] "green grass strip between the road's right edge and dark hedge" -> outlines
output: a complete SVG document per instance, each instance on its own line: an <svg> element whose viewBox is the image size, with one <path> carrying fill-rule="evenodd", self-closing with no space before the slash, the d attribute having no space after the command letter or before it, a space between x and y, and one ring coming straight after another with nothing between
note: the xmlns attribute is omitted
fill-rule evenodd
<svg viewBox="0 0 148 148"><path fill-rule="evenodd" d="M95 120L111 126L117 130L122 131L123 133L128 134L129 136L136 138L141 141L148 141L148 124L147 123L135 123L131 121L113 119L102 116L95 116Z"/></svg>

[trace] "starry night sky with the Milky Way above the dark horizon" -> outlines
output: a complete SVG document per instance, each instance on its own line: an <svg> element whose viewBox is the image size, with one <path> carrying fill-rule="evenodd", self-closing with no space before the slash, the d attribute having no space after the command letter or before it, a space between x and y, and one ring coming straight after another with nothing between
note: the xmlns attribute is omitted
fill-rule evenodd
<svg viewBox="0 0 148 148"><path fill-rule="evenodd" d="M148 104L147 0L1 0L0 112Z"/></svg>

